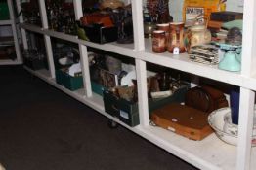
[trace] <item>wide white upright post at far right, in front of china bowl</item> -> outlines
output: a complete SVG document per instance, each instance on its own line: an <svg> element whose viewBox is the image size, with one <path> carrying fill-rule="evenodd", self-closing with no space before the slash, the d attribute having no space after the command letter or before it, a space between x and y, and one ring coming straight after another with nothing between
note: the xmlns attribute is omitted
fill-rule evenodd
<svg viewBox="0 0 256 170"><path fill-rule="evenodd" d="M244 1L243 29L242 29L242 62L241 75L251 77L255 75L256 69L256 2L254 0ZM244 43L246 42L246 44ZM255 92L240 87L238 146L236 157L236 169L250 169L251 139L253 129Z"/></svg>

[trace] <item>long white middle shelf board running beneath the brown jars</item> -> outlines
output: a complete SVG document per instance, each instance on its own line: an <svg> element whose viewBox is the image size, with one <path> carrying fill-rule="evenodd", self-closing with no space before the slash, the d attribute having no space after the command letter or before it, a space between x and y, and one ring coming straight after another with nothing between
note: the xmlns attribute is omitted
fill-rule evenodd
<svg viewBox="0 0 256 170"><path fill-rule="evenodd" d="M36 32L42 35L63 39L69 42L85 45L87 47L96 48L104 51L110 51L122 55L129 55L129 57L138 58L147 62L157 65L162 65L187 73L198 75L204 78L224 82L231 85L248 87L256 90L256 77L245 78L239 72L229 72L220 70L217 65L206 65L201 63L192 62L187 53L174 55L168 51L164 53L154 53L151 50L151 39L145 39L145 51L135 51L134 44L118 44L116 42L107 44L97 44L84 40L80 40L77 36L64 34L48 29L40 28L39 26L21 23L21 28ZM214 73L214 74L213 74ZM248 84L249 83L249 84Z"/></svg>

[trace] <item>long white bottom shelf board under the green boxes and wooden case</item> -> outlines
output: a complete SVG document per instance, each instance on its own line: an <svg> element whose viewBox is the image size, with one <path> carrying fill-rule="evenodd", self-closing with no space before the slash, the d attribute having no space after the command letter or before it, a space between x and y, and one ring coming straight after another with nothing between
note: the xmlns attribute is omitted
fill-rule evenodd
<svg viewBox="0 0 256 170"><path fill-rule="evenodd" d="M127 129L149 140L156 146L180 157L199 169L235 169L237 148L224 143L215 134L211 134L201 141L193 141L157 126L138 125L130 127L119 119L111 117L105 113L104 102L101 95L93 93L91 97L86 97L84 88L70 91L64 86L58 85L55 79L51 78L50 73L47 70L33 71L29 68L25 69L50 85L54 85L61 89L78 101L95 109L108 119L116 121ZM251 154L251 160L256 159L256 148L252 148ZM256 161L251 161L251 170L255 169L255 167Z"/></svg>

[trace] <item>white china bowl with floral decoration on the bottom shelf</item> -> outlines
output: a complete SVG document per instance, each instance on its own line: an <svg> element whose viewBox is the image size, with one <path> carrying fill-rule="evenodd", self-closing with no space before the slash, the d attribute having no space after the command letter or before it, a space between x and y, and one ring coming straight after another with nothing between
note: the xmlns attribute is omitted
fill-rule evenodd
<svg viewBox="0 0 256 170"><path fill-rule="evenodd" d="M238 126L232 123L230 108L221 108L213 111L208 117L208 122L210 126L214 129L215 134L218 136L218 138L228 144L235 146L237 145ZM252 135L252 146L256 146L255 121Z"/></svg>

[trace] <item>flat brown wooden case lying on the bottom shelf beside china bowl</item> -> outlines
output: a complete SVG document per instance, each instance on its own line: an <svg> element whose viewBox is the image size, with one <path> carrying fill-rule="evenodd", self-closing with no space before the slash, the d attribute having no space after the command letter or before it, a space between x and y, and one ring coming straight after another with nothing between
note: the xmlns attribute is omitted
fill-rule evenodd
<svg viewBox="0 0 256 170"><path fill-rule="evenodd" d="M180 103L165 105L151 115L156 125L192 140L202 140L213 132L207 118L207 113Z"/></svg>

